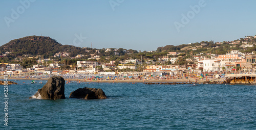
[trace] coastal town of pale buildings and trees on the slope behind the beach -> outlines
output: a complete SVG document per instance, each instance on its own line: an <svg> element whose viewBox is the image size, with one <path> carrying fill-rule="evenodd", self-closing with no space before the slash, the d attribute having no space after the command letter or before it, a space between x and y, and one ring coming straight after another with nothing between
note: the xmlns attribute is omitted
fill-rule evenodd
<svg viewBox="0 0 256 130"><path fill-rule="evenodd" d="M37 36L33 38L38 39ZM158 75L161 79L162 76L183 74L191 76L255 72L256 36L246 36L230 42L189 43L183 47L170 46L164 50L168 46L170 45L159 47L156 51L143 52L123 48L83 47L81 54L72 56L68 51L46 56L14 55L12 51L2 50L0 72L1 75L8 74L10 77L47 78L50 75L62 75L74 79L79 76L79 79L84 80L99 80L100 75L104 75L102 77L106 79L133 79L135 76L137 79L141 79L140 76L150 79L151 76ZM177 51L169 51L172 49ZM108 74L112 76L106 76Z"/></svg>

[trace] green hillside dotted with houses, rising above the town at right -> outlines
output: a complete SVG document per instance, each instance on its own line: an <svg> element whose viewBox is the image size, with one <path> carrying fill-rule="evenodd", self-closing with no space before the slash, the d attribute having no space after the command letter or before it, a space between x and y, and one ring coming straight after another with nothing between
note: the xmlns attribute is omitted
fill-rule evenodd
<svg viewBox="0 0 256 130"><path fill-rule="evenodd" d="M224 55L230 50L240 50L242 53L251 53L256 51L256 37L246 36L246 38L240 38L233 41L223 41L215 42L214 41L201 41L191 44L182 44L182 45L166 45L164 47L158 47L158 52L178 52L185 53L188 55L198 55L200 53L211 53L217 55ZM247 46L247 47L246 47Z"/></svg>

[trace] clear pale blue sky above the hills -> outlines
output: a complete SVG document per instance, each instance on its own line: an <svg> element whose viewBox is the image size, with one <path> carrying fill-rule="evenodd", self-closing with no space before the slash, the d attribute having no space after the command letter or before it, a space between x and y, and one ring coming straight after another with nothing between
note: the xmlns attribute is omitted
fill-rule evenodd
<svg viewBox="0 0 256 130"><path fill-rule="evenodd" d="M61 44L90 47L92 42L93 48L143 51L165 45L231 41L256 35L256 1L253 0L21 2L30 4L0 1L0 45L25 36L42 35ZM191 6L200 7L200 11L193 14ZM15 14L12 9L19 16L12 16ZM189 16L189 21L178 31L174 23L182 24L182 14ZM81 40L77 38L79 35Z"/></svg>

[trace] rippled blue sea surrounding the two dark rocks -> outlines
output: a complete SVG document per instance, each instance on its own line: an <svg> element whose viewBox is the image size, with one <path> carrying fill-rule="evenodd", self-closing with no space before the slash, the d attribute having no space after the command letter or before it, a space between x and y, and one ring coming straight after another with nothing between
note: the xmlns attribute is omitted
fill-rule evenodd
<svg viewBox="0 0 256 130"><path fill-rule="evenodd" d="M43 100L29 97L47 81L14 82L8 126L1 85L0 129L256 129L255 85L73 82L65 85L66 99ZM101 88L108 98L69 98L83 87Z"/></svg>

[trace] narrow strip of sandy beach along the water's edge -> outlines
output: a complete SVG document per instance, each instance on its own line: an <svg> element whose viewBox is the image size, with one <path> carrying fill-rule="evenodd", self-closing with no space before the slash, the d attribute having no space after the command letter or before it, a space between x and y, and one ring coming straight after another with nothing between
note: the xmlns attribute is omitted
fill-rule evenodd
<svg viewBox="0 0 256 130"><path fill-rule="evenodd" d="M45 81L45 80L48 80L48 79L36 79L36 78L31 78L31 79L24 79L24 78L9 78L8 80L30 80L30 81L32 81L32 80L35 80L35 81ZM82 79L64 79L65 80L65 82L67 81L67 80L69 80L69 81L80 81L80 82L99 82L99 83L150 83L150 82L152 82L152 83L186 83L187 81L186 81L186 79L170 79L170 80L144 80L144 82L143 82L143 80L103 80L103 81L84 81L84 80L82 80ZM203 82L205 82L206 80L204 79L204 80L198 80L197 81L197 83L203 83ZM220 81L220 79L212 79L212 80L209 80L210 82L214 82L214 81L216 81L216 82L218 82L218 81ZM194 80L194 79L192 79L192 80L190 80L188 83L195 83L196 81Z"/></svg>

